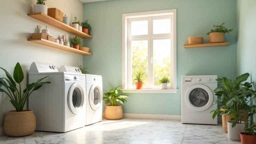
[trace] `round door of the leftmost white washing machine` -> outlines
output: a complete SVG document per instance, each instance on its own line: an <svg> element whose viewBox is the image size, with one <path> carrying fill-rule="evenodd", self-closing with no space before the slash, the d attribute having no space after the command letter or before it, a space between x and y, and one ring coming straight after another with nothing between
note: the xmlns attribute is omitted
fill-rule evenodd
<svg viewBox="0 0 256 144"><path fill-rule="evenodd" d="M84 91L81 84L73 83L69 88L68 106L73 114L78 114L84 106Z"/></svg>

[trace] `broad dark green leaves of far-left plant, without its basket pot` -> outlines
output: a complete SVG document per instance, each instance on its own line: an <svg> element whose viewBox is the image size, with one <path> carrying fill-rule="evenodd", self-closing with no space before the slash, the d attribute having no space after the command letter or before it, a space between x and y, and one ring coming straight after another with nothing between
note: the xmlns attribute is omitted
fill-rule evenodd
<svg viewBox="0 0 256 144"><path fill-rule="evenodd" d="M38 90L44 84L51 83L49 81L41 82L42 80L44 80L46 78L46 77L44 77L44 78L37 80L34 83L27 84L26 88L22 91L21 90L21 82L24 79L24 74L23 74L22 68L20 66L20 63L17 63L14 68L13 78L14 78L15 82L19 84L19 90L18 90L18 88L16 87L16 83L12 79L11 75L5 69L3 69L3 68L1 68L1 69L5 72L8 79L0 78L0 84L2 84L4 86L4 88L6 89L5 90L5 89L0 88L0 92L4 92L10 97L10 99L11 99L10 101L17 112L23 111L25 102L27 101L28 97L31 95L31 93L33 91Z"/></svg>

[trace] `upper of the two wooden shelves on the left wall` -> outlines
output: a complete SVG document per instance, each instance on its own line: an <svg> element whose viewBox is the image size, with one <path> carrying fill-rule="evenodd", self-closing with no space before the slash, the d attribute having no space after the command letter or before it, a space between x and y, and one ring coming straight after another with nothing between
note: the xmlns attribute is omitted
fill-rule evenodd
<svg viewBox="0 0 256 144"><path fill-rule="evenodd" d="M74 35L78 35L79 37L85 39L85 38L92 38L92 36L86 34L86 33L83 33L69 25L66 25L64 24L63 22L60 22L44 13L31 13L31 14L28 14L28 16L34 18L34 19L37 19L39 21L42 21L44 23L47 23L49 25L52 25L56 28L59 28L61 30L64 30L68 33L71 33L71 34L74 34Z"/></svg>

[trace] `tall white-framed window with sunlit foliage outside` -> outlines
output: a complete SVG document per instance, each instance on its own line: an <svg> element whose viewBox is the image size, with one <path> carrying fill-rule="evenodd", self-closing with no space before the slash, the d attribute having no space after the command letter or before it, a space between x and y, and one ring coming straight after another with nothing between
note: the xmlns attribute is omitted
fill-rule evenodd
<svg viewBox="0 0 256 144"><path fill-rule="evenodd" d="M135 72L142 68L144 89L159 92L166 75L176 93L176 9L123 14L122 56L124 90L136 89Z"/></svg>

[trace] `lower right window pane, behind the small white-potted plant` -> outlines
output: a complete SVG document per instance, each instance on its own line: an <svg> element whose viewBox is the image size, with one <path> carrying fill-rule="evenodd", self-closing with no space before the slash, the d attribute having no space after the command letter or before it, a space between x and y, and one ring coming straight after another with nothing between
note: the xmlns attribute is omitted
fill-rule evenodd
<svg viewBox="0 0 256 144"><path fill-rule="evenodd" d="M154 51L154 85L166 75L171 75L171 39L153 40ZM168 84L170 86L170 84Z"/></svg>

